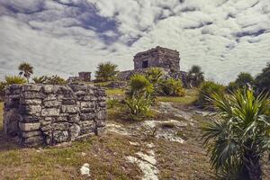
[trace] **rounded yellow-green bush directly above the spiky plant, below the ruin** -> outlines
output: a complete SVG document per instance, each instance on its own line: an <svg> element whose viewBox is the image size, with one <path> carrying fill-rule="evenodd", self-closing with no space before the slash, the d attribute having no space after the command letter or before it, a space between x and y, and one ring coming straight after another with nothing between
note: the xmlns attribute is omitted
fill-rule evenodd
<svg viewBox="0 0 270 180"><path fill-rule="evenodd" d="M153 85L148 81L146 76L135 74L130 77L130 90L128 95L151 95L154 92Z"/></svg>

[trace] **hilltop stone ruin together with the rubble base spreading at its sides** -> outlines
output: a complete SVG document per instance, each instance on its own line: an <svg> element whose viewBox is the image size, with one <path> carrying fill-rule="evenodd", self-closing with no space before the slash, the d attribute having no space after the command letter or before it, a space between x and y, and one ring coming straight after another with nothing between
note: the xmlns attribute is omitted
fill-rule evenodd
<svg viewBox="0 0 270 180"><path fill-rule="evenodd" d="M186 72L180 70L180 58L177 50L157 46L137 53L133 61L134 69L120 72L119 80L126 81L134 74L144 74L149 67L159 67L165 72L165 78L181 79L183 85L186 84Z"/></svg>

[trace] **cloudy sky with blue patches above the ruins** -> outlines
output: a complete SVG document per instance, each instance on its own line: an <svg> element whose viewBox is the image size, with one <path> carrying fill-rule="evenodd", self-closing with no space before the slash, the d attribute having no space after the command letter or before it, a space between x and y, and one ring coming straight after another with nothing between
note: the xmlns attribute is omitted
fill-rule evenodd
<svg viewBox="0 0 270 180"><path fill-rule="evenodd" d="M181 69L227 83L270 61L269 0L0 0L0 78L27 61L35 75L71 76L157 45Z"/></svg>

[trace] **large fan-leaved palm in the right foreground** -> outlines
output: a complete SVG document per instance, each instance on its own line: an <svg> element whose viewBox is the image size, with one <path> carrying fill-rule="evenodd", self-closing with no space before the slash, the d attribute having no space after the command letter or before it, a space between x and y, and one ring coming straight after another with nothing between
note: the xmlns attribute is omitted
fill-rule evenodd
<svg viewBox="0 0 270 180"><path fill-rule="evenodd" d="M270 152L270 99L253 90L212 94L215 121L202 128L211 165L227 179L261 180L261 160Z"/></svg>

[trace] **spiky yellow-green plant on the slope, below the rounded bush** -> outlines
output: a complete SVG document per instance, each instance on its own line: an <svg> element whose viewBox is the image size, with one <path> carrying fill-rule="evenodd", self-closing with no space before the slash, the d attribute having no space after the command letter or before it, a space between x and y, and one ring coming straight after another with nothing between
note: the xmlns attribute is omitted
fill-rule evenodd
<svg viewBox="0 0 270 180"><path fill-rule="evenodd" d="M144 117L151 115L151 98L147 95L135 95L127 97L125 104L127 107L127 113L131 120L141 120Z"/></svg>

